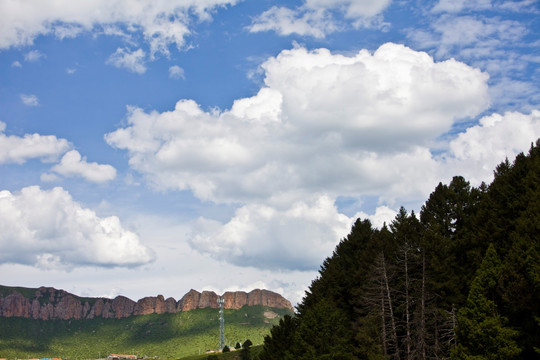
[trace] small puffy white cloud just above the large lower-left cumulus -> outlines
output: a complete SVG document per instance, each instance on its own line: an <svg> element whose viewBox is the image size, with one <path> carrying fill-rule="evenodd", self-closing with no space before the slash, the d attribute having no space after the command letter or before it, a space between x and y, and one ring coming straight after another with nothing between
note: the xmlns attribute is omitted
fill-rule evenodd
<svg viewBox="0 0 540 360"><path fill-rule="evenodd" d="M88 163L81 158L76 150L68 151L59 164L53 166L51 171L62 176L79 176L94 183L104 183L116 177L116 169L111 165L102 165L95 162ZM50 179L47 175L44 180Z"/></svg>

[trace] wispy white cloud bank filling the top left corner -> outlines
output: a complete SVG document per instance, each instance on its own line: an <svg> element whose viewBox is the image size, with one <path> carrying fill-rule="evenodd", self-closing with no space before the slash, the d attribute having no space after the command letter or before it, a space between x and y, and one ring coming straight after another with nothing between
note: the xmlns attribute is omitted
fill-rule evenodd
<svg viewBox="0 0 540 360"><path fill-rule="evenodd" d="M58 0L35 2L0 1L0 49L25 46L39 35L74 37L83 31L100 32L124 25L127 32L142 32L156 52L168 53L168 46L181 48L190 34L191 14L210 19L217 7L234 5L236 0Z"/></svg>

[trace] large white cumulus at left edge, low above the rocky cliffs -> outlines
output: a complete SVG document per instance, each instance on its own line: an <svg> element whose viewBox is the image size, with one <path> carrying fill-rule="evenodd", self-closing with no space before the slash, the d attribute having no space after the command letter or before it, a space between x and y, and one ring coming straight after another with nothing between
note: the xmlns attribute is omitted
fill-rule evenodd
<svg viewBox="0 0 540 360"><path fill-rule="evenodd" d="M97 216L62 188L0 191L0 263L70 269L139 266L153 259L117 217Z"/></svg>

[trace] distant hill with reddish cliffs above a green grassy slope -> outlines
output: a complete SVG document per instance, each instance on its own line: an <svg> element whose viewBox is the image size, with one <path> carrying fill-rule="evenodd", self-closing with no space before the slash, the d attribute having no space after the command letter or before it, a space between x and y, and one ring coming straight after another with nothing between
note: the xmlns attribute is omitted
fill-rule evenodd
<svg viewBox="0 0 540 360"><path fill-rule="evenodd" d="M97 359L120 353L166 359L204 353L219 345L219 314L217 302L214 305L212 301L214 296L217 299L212 292L191 290L175 302L174 312L172 307L161 305L168 301L162 301L162 296L143 298L133 302L131 315L124 316L126 306L131 307L125 305L131 304L131 300L124 297L83 298L53 288L1 286L0 358ZM284 315L293 313L287 300L267 290L223 296L226 299L225 338L231 346L246 339L262 344L271 327ZM115 300L116 307L113 306ZM101 316L97 315L99 302L108 309L101 312ZM122 302L124 306L118 305ZM39 304L40 309L52 307L53 316L32 318L34 314L44 314L41 310L32 313L32 306L38 307L33 304ZM5 316L6 308L12 316ZM79 313L74 309L82 310ZM94 316L90 317L92 309ZM141 314L141 309L153 312ZM78 314L81 316L75 318Z"/></svg>

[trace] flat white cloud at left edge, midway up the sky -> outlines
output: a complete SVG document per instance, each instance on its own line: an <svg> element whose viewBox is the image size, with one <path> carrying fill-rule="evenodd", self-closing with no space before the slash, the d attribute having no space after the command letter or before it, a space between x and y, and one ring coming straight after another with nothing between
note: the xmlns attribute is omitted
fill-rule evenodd
<svg viewBox="0 0 540 360"><path fill-rule="evenodd" d="M5 123L0 122L0 164L22 164L36 158L52 162L71 146L67 140L58 139L53 135L7 136L4 134L5 126Z"/></svg>

